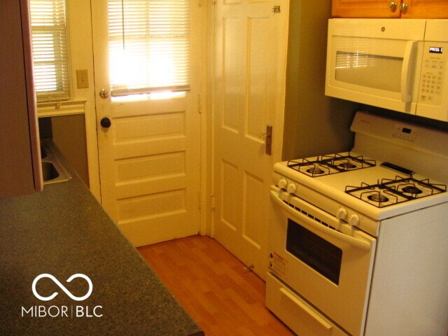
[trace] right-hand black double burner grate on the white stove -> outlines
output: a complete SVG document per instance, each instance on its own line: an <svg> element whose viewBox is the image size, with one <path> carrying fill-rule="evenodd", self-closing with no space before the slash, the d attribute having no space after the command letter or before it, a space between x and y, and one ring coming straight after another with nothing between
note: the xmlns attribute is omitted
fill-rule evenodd
<svg viewBox="0 0 448 336"><path fill-rule="evenodd" d="M345 192L375 207L416 200L447 191L444 184L431 183L428 179L395 176L394 180L382 179L377 184L361 183L360 186L346 186Z"/></svg>

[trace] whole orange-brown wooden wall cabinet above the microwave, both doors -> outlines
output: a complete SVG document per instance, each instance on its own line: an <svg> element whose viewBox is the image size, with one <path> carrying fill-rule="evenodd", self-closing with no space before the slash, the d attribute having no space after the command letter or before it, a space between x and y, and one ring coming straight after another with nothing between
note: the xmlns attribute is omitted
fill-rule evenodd
<svg viewBox="0 0 448 336"><path fill-rule="evenodd" d="M447 0L332 0L333 18L448 18Z"/></svg>

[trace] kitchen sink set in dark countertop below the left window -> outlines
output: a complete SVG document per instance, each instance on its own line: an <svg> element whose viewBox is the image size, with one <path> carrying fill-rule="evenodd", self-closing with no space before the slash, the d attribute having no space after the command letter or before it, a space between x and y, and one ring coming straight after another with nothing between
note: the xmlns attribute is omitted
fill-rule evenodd
<svg viewBox="0 0 448 336"><path fill-rule="evenodd" d="M69 181L71 175L65 169L61 154L51 141L41 142L43 184Z"/></svg>

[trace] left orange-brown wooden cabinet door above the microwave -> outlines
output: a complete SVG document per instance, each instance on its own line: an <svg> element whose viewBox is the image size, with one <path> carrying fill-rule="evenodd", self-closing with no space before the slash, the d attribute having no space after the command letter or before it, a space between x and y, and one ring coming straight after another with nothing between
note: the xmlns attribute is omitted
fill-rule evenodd
<svg viewBox="0 0 448 336"><path fill-rule="evenodd" d="M440 3L446 0L438 1ZM395 6L387 0L332 0L333 18L399 18L400 0Z"/></svg>

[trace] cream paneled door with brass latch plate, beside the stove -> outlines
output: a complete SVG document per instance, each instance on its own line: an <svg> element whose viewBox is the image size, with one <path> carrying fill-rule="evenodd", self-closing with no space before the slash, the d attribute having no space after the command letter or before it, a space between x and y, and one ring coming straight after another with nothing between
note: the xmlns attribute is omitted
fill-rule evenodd
<svg viewBox="0 0 448 336"><path fill-rule="evenodd" d="M281 159L288 1L217 1L214 237L265 278L272 165ZM265 153L272 125L272 155Z"/></svg>

